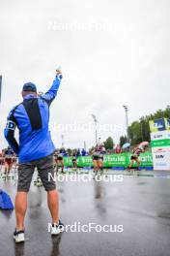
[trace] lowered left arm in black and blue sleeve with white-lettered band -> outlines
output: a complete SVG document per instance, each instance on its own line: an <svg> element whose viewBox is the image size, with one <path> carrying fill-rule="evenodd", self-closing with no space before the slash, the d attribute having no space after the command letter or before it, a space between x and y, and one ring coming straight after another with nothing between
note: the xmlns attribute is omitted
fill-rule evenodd
<svg viewBox="0 0 170 256"><path fill-rule="evenodd" d="M15 108L14 108L14 110L15 110ZM14 138L14 130L16 127L16 120L14 118L14 110L12 112L10 112L10 114L7 118L7 126L4 130L4 136L5 136L8 144L10 144L12 149L14 150L14 153L18 154L19 145L17 144L17 142Z"/></svg>

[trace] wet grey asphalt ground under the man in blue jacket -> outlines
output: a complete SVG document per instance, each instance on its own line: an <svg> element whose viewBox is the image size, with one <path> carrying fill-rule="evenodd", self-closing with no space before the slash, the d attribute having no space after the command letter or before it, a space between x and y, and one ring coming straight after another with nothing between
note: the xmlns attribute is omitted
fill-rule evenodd
<svg viewBox="0 0 170 256"><path fill-rule="evenodd" d="M166 176L124 176L123 181L65 180L58 181L57 186L65 225L112 225L114 232L68 230L51 238L46 193L32 183L25 243L14 244L14 211L0 211L0 256L170 255L170 179ZM14 202L14 182L1 180L0 187ZM123 232L118 232L120 227Z"/></svg>

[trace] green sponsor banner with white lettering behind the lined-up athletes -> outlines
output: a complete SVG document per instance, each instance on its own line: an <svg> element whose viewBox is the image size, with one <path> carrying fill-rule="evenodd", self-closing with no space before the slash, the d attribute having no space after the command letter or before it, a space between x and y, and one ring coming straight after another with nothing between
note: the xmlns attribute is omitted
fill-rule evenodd
<svg viewBox="0 0 170 256"><path fill-rule="evenodd" d="M127 168L130 163L131 153L110 154L104 155L104 167L123 167ZM153 167L153 157L151 152L145 152L140 155L141 167ZM64 157L66 167L72 167L72 157ZM79 156L77 157L78 167L92 167L92 156ZM135 166L135 165L134 165Z"/></svg>

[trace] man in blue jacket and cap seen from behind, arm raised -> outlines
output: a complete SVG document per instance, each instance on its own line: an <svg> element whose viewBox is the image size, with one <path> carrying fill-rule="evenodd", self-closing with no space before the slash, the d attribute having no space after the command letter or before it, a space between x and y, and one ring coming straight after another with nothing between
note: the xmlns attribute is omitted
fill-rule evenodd
<svg viewBox="0 0 170 256"><path fill-rule="evenodd" d="M53 179L48 180L50 174L54 176L53 152L55 150L48 130L49 107L57 95L61 79L61 71L57 70L52 86L41 97L38 97L34 83L25 83L22 89L23 102L14 107L8 116L4 131L5 138L19 158L15 197L15 242L24 241L27 194L35 168L38 169L42 184L47 191L47 203L52 217L51 235L58 235L61 232L59 196ZM14 138L15 127L19 130L19 144Z"/></svg>

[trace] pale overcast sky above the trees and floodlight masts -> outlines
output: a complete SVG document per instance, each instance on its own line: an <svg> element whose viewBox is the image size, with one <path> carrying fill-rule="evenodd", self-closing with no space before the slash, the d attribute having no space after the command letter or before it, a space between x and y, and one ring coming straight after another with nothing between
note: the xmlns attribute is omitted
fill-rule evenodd
<svg viewBox="0 0 170 256"><path fill-rule="evenodd" d="M164 109L170 104L169 11L169 0L0 1L0 147L22 84L33 81L46 91L58 65L64 80L50 118L57 147L62 134L66 146L94 144L92 113L101 141L112 136L117 143L125 134L123 104L129 122Z"/></svg>

